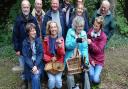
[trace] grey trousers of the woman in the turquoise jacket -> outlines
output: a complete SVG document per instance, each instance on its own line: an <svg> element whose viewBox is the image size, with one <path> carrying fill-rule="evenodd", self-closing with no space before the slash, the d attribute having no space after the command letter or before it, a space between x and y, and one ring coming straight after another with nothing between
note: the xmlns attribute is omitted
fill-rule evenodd
<svg viewBox="0 0 128 89"><path fill-rule="evenodd" d="M84 79L83 80L84 89L90 89L90 82L89 82L87 71L83 72L82 79ZM67 87L68 89L72 89L74 86L75 86L74 75L68 74L67 75Z"/></svg>

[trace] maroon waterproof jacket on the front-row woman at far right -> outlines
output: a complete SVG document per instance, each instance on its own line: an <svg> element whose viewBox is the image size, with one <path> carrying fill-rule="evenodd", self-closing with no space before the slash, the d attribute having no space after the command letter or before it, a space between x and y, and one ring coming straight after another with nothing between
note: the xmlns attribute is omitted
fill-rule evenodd
<svg viewBox="0 0 128 89"><path fill-rule="evenodd" d="M97 38L91 37L91 32L93 29L91 28L88 32L88 38L92 40L92 43L89 44L89 60L92 64L92 61L95 62L95 64L104 65L105 60L105 53L104 53L104 47L106 45L107 37L106 34L101 31L100 36Z"/></svg>

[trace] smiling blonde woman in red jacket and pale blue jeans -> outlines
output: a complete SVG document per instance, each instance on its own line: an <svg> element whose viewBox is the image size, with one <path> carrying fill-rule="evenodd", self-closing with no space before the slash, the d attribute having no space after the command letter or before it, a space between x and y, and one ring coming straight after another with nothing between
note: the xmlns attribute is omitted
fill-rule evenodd
<svg viewBox="0 0 128 89"><path fill-rule="evenodd" d="M44 38L43 47L44 47L44 61L49 63L51 61L55 62L64 62L64 39L63 37L58 37L59 28L56 22L49 21L47 23L47 36ZM62 87L62 72L57 74L52 74L47 72L48 75L48 88L58 88Z"/></svg>

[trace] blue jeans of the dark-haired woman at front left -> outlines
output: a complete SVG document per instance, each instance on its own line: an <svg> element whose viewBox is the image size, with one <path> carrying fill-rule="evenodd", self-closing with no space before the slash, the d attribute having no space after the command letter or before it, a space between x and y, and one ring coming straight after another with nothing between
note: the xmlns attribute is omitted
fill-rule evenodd
<svg viewBox="0 0 128 89"><path fill-rule="evenodd" d="M40 74L41 71L37 74L31 74L32 89L41 89Z"/></svg>

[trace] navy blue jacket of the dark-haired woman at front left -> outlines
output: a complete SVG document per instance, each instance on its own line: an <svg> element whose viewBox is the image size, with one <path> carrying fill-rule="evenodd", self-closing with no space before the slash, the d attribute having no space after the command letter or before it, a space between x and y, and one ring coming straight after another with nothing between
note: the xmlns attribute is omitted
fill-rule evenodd
<svg viewBox="0 0 128 89"><path fill-rule="evenodd" d="M31 49L31 43L28 38L26 38L23 41L23 48L22 48L22 53L23 53L23 58L24 58L24 72L25 72L25 78L29 79L30 75L32 74L32 68L34 66L37 66L39 70L43 70L43 47L42 47L42 42L40 38L35 39L35 48L36 48L36 60L32 60L32 49Z"/></svg>

